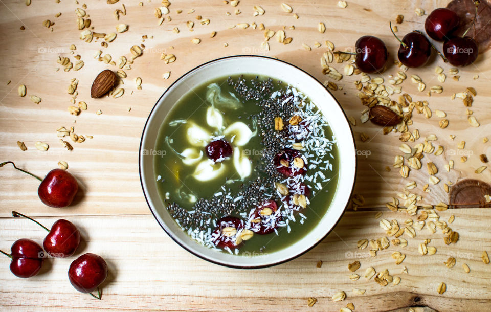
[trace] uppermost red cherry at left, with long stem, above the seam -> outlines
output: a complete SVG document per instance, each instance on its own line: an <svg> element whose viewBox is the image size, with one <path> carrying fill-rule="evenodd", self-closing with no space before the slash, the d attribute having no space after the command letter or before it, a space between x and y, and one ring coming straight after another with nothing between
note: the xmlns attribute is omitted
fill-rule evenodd
<svg viewBox="0 0 491 312"><path fill-rule="evenodd" d="M41 179L29 171L18 168L11 161L0 163L0 167L12 164L15 169L27 173L41 181L37 189L37 194L41 202L55 208L63 208L72 204L73 198L78 191L78 183L75 177L63 169L53 169Z"/></svg>

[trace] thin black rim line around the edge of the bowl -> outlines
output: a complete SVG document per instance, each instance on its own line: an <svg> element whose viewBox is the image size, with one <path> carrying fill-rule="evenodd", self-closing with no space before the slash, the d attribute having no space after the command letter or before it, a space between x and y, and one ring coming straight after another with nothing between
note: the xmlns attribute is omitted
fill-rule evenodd
<svg viewBox="0 0 491 312"><path fill-rule="evenodd" d="M195 255L196 257L198 258L201 258L203 260L206 260L208 262L211 262L211 263L214 263L214 264L218 264L218 265L222 265L222 266L226 266L228 268L235 268L235 269L261 269L261 268L269 268L271 266L275 266L275 265L279 265L279 264L282 264L282 263L285 263L285 262L288 262L288 261L291 261L293 259L296 259L302 255L304 255L305 253L309 252L310 250L312 250L314 247L316 247L320 242L322 242L331 232L332 230L338 225L339 221L341 220L341 218L343 217L344 213L346 212L346 207L347 205L349 204L349 200L348 200L348 203L346 203L346 207L343 209L343 211L341 212L338 220L336 220L336 222L334 223L334 225L332 226L332 228L327 231L327 233L321 238L319 239L318 241L316 241L312 246L310 246L309 248L307 248L306 250L304 250L303 252L301 253L298 253L292 257L289 257L288 259L284 259L284 260L281 260L281 261L277 261L277 262L273 262L273 263L269 263L269 264L264 264L264 265L254 265L254 266L242 266L242 265L233 265L233 264L227 264L227 263L222 263L222 262L218 262L218 261L215 261L215 260L212 260L212 259L209 259L203 255L200 255L194 251L192 251L191 249L189 249L187 246L185 246L184 244L182 244L180 241L178 241L174 236L173 234L170 232L170 231L167 231L166 228L164 227L164 225L161 223L161 221L159 220L159 218L157 217L157 212L153 211L152 209L152 206L150 205L150 202L147 198L147 194L145 192L145 188L143 186L143 177L142 177L142 164L141 164L141 153L142 153L142 145L143 145L143 135L145 134L145 130L148 126L148 121L150 119L150 116L152 116L152 113L153 113L153 110L155 109L155 107L157 107L157 105L159 104L160 100L162 99L162 97L164 97L164 95L167 93L167 91L170 90L170 88L176 84L177 82L181 81L181 79L183 79L184 76L188 75L189 73L195 71L195 70L198 70L199 68L202 68L203 66L209 64L209 63L213 63L213 62L216 62L216 61L220 61L220 60L225 60L225 59L230 59L230 58L241 58L241 57L253 57L253 58L263 58L263 59L269 59L269 60L274 60L274 61L277 61L277 62L281 62L283 64L286 64L286 65L289 65L289 66L292 66L294 67L295 69L299 70L299 71L302 71L303 73L307 74L310 78L312 78L314 81L316 81L317 83L319 83L329 94L330 96L334 99L334 101L336 101L336 104L338 104L338 106L341 108L341 112L343 113L345 119L346 119L346 122L348 122L348 118L346 116L346 113L344 112L343 110L343 107L341 106L341 104L339 103L338 99L336 97L334 97L334 95L329 91L329 89L327 87L325 87L319 80L317 80L314 76L310 75L309 73L307 73L306 71L302 70L301 68L299 68L298 66L296 65L293 65L291 63L288 63L286 61L283 61L283 60L279 60L279 59L276 59L276 58L272 58L272 57L268 57L268 56L260 56L260 55L233 55L233 56L226 56L226 57L220 57L220 58L217 58L217 59L214 59L214 60L211 60L211 61L208 61L206 63L203 63L203 64L200 64L198 66L196 66L195 68L191 69L190 71L186 72L184 75L182 75L181 77L179 77L176 81L174 81L171 85L169 85L169 87L167 87L167 89L164 91L164 93L160 96L160 98L157 100L157 102L155 103L155 105L153 105L152 107L152 110L150 110L150 114L148 114L148 118L147 120L145 121L145 126L143 127L143 131L142 131L142 137L140 139L140 148L139 148L139 153L138 153L138 172L139 172L139 175L140 175L140 184L142 185L142 190L143 190L143 196L145 197L145 201L147 202L147 205L148 205L148 208L150 209L150 212L152 213L153 217L155 218L155 220L157 220L157 222L159 223L160 227L164 230L165 233L167 233L167 235L169 235L170 238L172 238L173 241L175 241L179 246L181 246L182 248L184 248L186 251L188 251L189 253ZM348 127L349 127L349 124L348 124ZM354 140L354 135L353 135L353 130L351 129L351 127L349 127L350 129L350 132L351 132L351 139L353 140L353 146L355 147L355 150L356 150L356 142ZM356 173L357 173L357 170L358 170L358 161L356 160L356 156L355 156L355 162L354 162L354 180L353 180L353 184L351 186L351 191L349 193L349 198L351 198L351 196L353 195L353 190L354 190L354 182L356 180ZM193 241L191 238L190 238L190 241Z"/></svg>

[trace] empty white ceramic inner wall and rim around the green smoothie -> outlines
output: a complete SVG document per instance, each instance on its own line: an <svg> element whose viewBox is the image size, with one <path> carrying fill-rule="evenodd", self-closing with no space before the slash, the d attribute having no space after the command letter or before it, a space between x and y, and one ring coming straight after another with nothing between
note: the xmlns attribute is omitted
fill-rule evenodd
<svg viewBox="0 0 491 312"><path fill-rule="evenodd" d="M332 202L319 224L303 238L282 250L249 256L217 252L193 241L167 212L157 191L153 156L159 129L171 107L191 88L206 81L237 74L256 74L284 81L305 93L327 117L338 141L339 182ZM220 58L191 70L177 79L157 101L143 129L139 154L140 180L148 206L165 232L184 249L210 262L233 268L263 268L291 260L313 248L336 226L349 202L356 173L353 133L338 101L314 77L284 61L261 56Z"/></svg>

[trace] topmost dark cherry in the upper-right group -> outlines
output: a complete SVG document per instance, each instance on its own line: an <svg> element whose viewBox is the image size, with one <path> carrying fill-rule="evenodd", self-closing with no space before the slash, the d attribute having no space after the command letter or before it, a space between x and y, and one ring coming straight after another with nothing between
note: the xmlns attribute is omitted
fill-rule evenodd
<svg viewBox="0 0 491 312"><path fill-rule="evenodd" d="M443 41L459 26L460 18L452 10L438 8L433 10L425 21L425 30L430 38Z"/></svg>

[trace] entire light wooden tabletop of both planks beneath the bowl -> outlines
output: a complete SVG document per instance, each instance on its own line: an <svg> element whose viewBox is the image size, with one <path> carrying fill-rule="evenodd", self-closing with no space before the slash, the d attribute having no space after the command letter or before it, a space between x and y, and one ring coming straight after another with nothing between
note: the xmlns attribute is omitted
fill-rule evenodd
<svg viewBox="0 0 491 312"><path fill-rule="evenodd" d="M439 212L440 219L447 221L451 215L455 221L451 227L460 233L455 244L443 243L441 231L431 234L428 230L417 231L417 236L408 239L406 248L390 246L379 251L376 257L369 257L368 249L359 250L357 241L362 238L377 239L385 236L378 226L380 219L396 219L399 225L409 216L405 212L391 212L385 207L391 197L403 190L409 181L416 181L412 190L421 194L421 204L436 205L448 202L443 184L453 183L464 177L490 181L491 170L481 174L474 170L481 166L479 155L491 157L491 143L482 143L482 138L491 136L491 54L481 54L475 65L460 69L460 81L454 81L449 74L451 66L434 57L425 68L407 71L408 77L419 75L427 84L442 85L441 94L418 92L417 85L406 79L403 92L417 100L428 100L429 107L444 110L450 124L440 129L440 118L433 114L426 119L415 114L411 130L419 129L422 142L430 134L437 136L433 145L442 145L445 152L439 157L429 155L421 170L412 170L408 179L401 179L399 169L392 167L399 151L399 133L383 135L381 127L370 122L361 123L360 113L364 110L357 96L354 81L360 75L344 76L336 81L343 90L333 91L348 116L355 117L353 131L360 152L358 157L358 176L355 193L361 194L366 203L357 211L348 208L338 226L314 250L285 264L261 270L234 270L201 260L177 246L159 227L152 217L142 194L138 175L138 147L145 120L155 101L175 79L195 66L228 55L261 54L291 62L317 79L330 80L323 75L320 58L327 51L325 40L336 44L337 50L353 49L354 42L361 35L372 34L382 38L390 51L387 71L381 76L386 81L389 75L396 75L398 68L392 61L398 42L389 31L389 20L394 21L398 14L404 15L403 24L398 25L402 36L413 29L423 29L425 16L417 16L416 8L431 12L436 7L445 6L444 1L354 1L348 0L347 8L340 8L337 1L298 1L288 2L293 12L286 13L278 1L261 2L264 15L253 16L254 5L260 2L241 0L237 7L221 1L173 1L170 13L164 15L165 21L159 25L154 9L161 6L157 0L121 0L116 4L105 1L87 0L86 14L90 15L94 32L110 33L117 24L129 25L129 30L118 33L116 40L108 48L100 46L101 39L91 43L79 39L75 10L82 7L75 1L33 0L30 6L24 1L3 0L0 3L0 160L12 160L33 173L43 176L57 167L57 162L68 162L69 170L80 182L80 192L75 203L69 208L54 209L44 206L38 199L38 182L32 177L13 170L10 166L0 169L0 249L8 251L11 244L19 238L30 238L41 242L44 235L41 228L25 219L13 219L11 210L29 214L43 224L50 226L58 218L74 222L82 232L83 243L77 255L93 252L104 257L109 265L109 277L103 284L103 299L95 300L75 291L67 278L68 267L74 258L48 259L42 273L29 280L14 277L8 268L5 257L0 265L0 304L3 309L20 310L58 310L58 309L178 309L178 310L329 310L336 311L347 303L353 303L355 310L398 310L410 306L429 307L436 310L489 310L491 308L491 265L484 264L481 252L491 252L489 209L466 208L449 209ZM126 15L120 14L119 21L113 12L126 6ZM177 14L177 10L182 10ZM240 10L236 15L235 11ZM193 11L192 13L190 13ZM55 14L61 12L61 16ZM229 14L226 14L230 12ZM293 15L298 14L298 19ZM202 16L198 20L197 16ZM168 16L171 20L168 20ZM87 18L87 16L85 16ZM209 25L200 22L208 18ZM50 28L43 26L49 19L55 24ZM194 21L191 32L186 22ZM318 31L318 23L323 22L325 33ZM238 23L253 22L256 29L230 28ZM285 27L290 44L277 42L276 37L269 41L270 50L261 46L264 31L259 29L263 23L266 29L279 31ZM24 26L25 30L20 30ZM290 27L295 26L292 30ZM179 33L173 32L178 27ZM216 36L210 38L210 33ZM142 36L148 39L142 41ZM200 38L197 45L192 38ZM315 47L318 41L322 45ZM104 97L91 99L90 87L97 73L104 69L118 70L117 66L105 64L94 59L98 50L101 56L110 54L116 62L121 55L128 59L130 47L144 44L145 50L125 70L127 78L121 86L125 93L120 98ZM311 47L307 51L302 44ZM70 46L76 50L70 54ZM165 64L161 54L174 54L175 62ZM65 72L57 63L58 56L69 57L75 65L75 55L80 55L84 66L79 71ZM330 64L343 73L344 65ZM440 83L434 73L437 65L447 74L447 81ZM59 70L58 70L59 69ZM170 71L169 79L162 75ZM479 79L474 80L478 74ZM376 77L377 75L372 75ZM142 78L142 90L137 90L134 80ZM70 115L67 107L72 105L68 94L71 79L78 79L76 103L85 101L86 111L78 116ZM8 81L11 81L7 84ZM331 81L331 80L330 80ZM27 86L27 96L19 97L17 88ZM387 84L387 83L386 83ZM459 99L451 100L453 93L463 92L472 86L477 91L472 107L473 115L480 123L474 128L467 122L466 107ZM42 98L39 104L30 101L29 96ZM397 100L397 95L392 97ZM76 106L76 104L75 104ZM128 111L128 108L131 108ZM101 110L102 114L96 112ZM57 138L56 129L64 126L75 127L78 135L91 135L83 143L71 143L73 150L66 150ZM369 140L362 142L361 133ZM455 135L452 141L449 135ZM68 137L65 140L71 142ZM16 141L27 146L22 151ZM41 152L34 146L42 141L49 144L48 151ZM463 150L457 149L460 141L466 141ZM411 143L410 145L414 145ZM460 162L458 152L466 152L468 160ZM369 155L367 155L369 152ZM422 191L428 183L426 161L432 160L439 168L437 176L441 182L431 186L431 192ZM445 171L444 164L450 159L455 167ZM386 171L386 166L391 171ZM382 217L376 219L377 211ZM390 237L389 237L390 238ZM434 255L422 256L418 252L419 243L431 238L429 246L437 248ZM394 251L406 254L406 259L396 265L391 258ZM443 262L455 257L456 265L449 269ZM321 268L316 263L322 260ZM348 263L361 262L356 272L362 277L351 281ZM470 267L466 274L462 264ZM388 269L394 277L401 278L397 286L378 285L373 278L363 278L365 269L373 266L377 272ZM403 266L407 274L403 273ZM440 282L445 282L447 292L437 293ZM353 288L366 289L364 295L356 295ZM347 298L341 302L332 301L338 291L346 292ZM307 298L317 298L313 307L307 306Z"/></svg>

